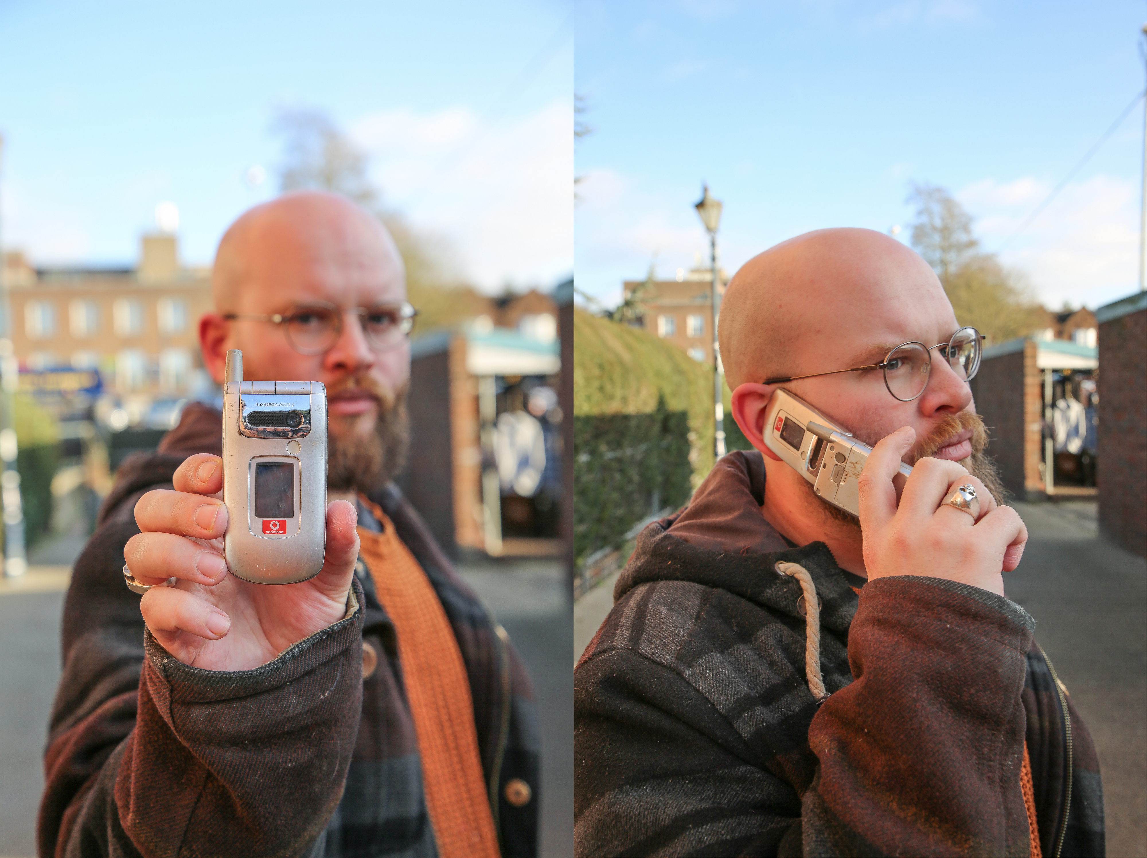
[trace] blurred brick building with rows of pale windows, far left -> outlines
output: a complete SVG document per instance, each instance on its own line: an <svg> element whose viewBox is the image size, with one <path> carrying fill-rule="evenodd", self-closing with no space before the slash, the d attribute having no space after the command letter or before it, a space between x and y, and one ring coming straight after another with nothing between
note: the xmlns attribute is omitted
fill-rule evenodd
<svg viewBox="0 0 1147 858"><path fill-rule="evenodd" d="M3 282L22 370L97 369L124 396L180 397L202 382L211 272L182 267L174 235L145 235L134 268L33 267L7 252Z"/></svg>

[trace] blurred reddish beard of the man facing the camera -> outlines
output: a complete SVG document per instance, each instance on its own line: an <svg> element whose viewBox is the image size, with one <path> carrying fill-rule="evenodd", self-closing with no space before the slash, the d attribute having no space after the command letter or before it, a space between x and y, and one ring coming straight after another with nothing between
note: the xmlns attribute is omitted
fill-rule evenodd
<svg viewBox="0 0 1147 858"><path fill-rule="evenodd" d="M348 379L327 396L340 390L360 388L374 395L379 404L376 415L331 414L327 437L327 485L334 491L369 493L382 487L406 465L409 447L409 421L406 413L404 385L389 396L373 379ZM373 426L369 424L373 418Z"/></svg>

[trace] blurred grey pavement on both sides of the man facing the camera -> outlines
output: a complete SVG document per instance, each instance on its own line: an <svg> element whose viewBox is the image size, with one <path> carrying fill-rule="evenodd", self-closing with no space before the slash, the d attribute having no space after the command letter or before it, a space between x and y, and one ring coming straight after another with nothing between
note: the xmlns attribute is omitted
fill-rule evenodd
<svg viewBox="0 0 1147 858"><path fill-rule="evenodd" d="M460 571L506 626L533 678L541 718L541 855L572 856L574 688L564 575L552 561L469 563ZM36 855L64 586L67 567L30 572L18 588L0 580L0 856Z"/></svg>

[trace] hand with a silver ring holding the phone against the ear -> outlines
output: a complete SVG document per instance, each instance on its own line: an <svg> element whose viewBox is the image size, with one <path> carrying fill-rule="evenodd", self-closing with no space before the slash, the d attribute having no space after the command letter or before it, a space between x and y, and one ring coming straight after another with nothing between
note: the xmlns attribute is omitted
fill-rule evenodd
<svg viewBox="0 0 1147 858"><path fill-rule="evenodd" d="M897 505L892 478L915 431L904 427L880 440L860 475L860 529L868 578L923 575L947 578L1004 595L1002 572L1020 564L1028 529L1012 507L960 465L921 459L912 468ZM970 483L980 499L980 518L942 501Z"/></svg>

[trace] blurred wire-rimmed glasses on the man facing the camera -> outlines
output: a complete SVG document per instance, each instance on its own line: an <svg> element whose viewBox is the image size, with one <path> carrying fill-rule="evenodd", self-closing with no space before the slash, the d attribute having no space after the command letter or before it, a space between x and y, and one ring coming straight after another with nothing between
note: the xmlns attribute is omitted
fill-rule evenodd
<svg viewBox="0 0 1147 858"><path fill-rule="evenodd" d="M362 334L375 351L401 345L414 328L419 311L407 302L375 304L368 307L340 307L325 301L299 304L289 313L227 313L224 319L251 319L281 325L287 342L301 354L322 354L330 351L343 334L344 313L354 313L362 325Z"/></svg>

